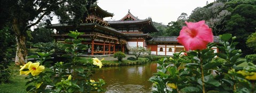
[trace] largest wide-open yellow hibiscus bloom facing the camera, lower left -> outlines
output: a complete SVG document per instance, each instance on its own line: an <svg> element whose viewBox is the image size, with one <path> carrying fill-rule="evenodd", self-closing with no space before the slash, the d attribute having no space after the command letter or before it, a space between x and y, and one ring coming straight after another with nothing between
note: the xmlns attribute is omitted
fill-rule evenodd
<svg viewBox="0 0 256 93"><path fill-rule="evenodd" d="M29 66L28 66L28 69L29 71L31 72L31 74L33 76L36 76L38 75L39 73L41 73L43 70L44 70L44 66L43 65L40 65L39 66L39 62L37 63L31 63Z"/></svg>

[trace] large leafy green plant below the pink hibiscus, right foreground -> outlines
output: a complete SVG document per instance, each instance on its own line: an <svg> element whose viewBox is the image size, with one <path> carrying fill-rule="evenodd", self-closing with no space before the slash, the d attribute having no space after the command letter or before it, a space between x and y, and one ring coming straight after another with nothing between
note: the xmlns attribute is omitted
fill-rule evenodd
<svg viewBox="0 0 256 93"><path fill-rule="evenodd" d="M187 56L175 53L161 58L157 73L149 79L153 92L255 92L256 65L241 60L236 37L225 34L220 39L220 53L213 53L215 44L209 44L186 52Z"/></svg>

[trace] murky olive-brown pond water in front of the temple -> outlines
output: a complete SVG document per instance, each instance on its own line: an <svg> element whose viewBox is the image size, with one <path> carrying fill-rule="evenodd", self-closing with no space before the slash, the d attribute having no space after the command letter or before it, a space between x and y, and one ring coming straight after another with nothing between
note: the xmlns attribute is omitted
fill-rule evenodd
<svg viewBox="0 0 256 93"><path fill-rule="evenodd" d="M157 63L133 66L102 67L95 71L93 79L103 79L106 92L151 92L152 83L148 81L156 73Z"/></svg>

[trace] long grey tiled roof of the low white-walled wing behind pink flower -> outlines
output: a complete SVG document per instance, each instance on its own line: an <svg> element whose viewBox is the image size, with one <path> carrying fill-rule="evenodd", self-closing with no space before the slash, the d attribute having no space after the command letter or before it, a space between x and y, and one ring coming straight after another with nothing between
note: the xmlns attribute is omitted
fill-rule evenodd
<svg viewBox="0 0 256 93"><path fill-rule="evenodd" d="M157 42L157 43L177 43L178 36L159 36L153 37L152 39L148 40L148 42ZM214 43L219 43L219 36L213 36Z"/></svg>

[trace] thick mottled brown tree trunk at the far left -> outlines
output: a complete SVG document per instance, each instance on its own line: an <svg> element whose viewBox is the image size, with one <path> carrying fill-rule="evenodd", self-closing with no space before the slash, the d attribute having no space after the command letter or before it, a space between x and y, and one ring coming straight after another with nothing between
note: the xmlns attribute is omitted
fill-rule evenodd
<svg viewBox="0 0 256 93"><path fill-rule="evenodd" d="M28 55L26 48L26 32L24 32L24 30L20 30L19 27L22 27L21 24L22 23L19 23L17 18L13 19L13 31L15 32L17 42L17 52L15 56L16 65L25 64Z"/></svg>

